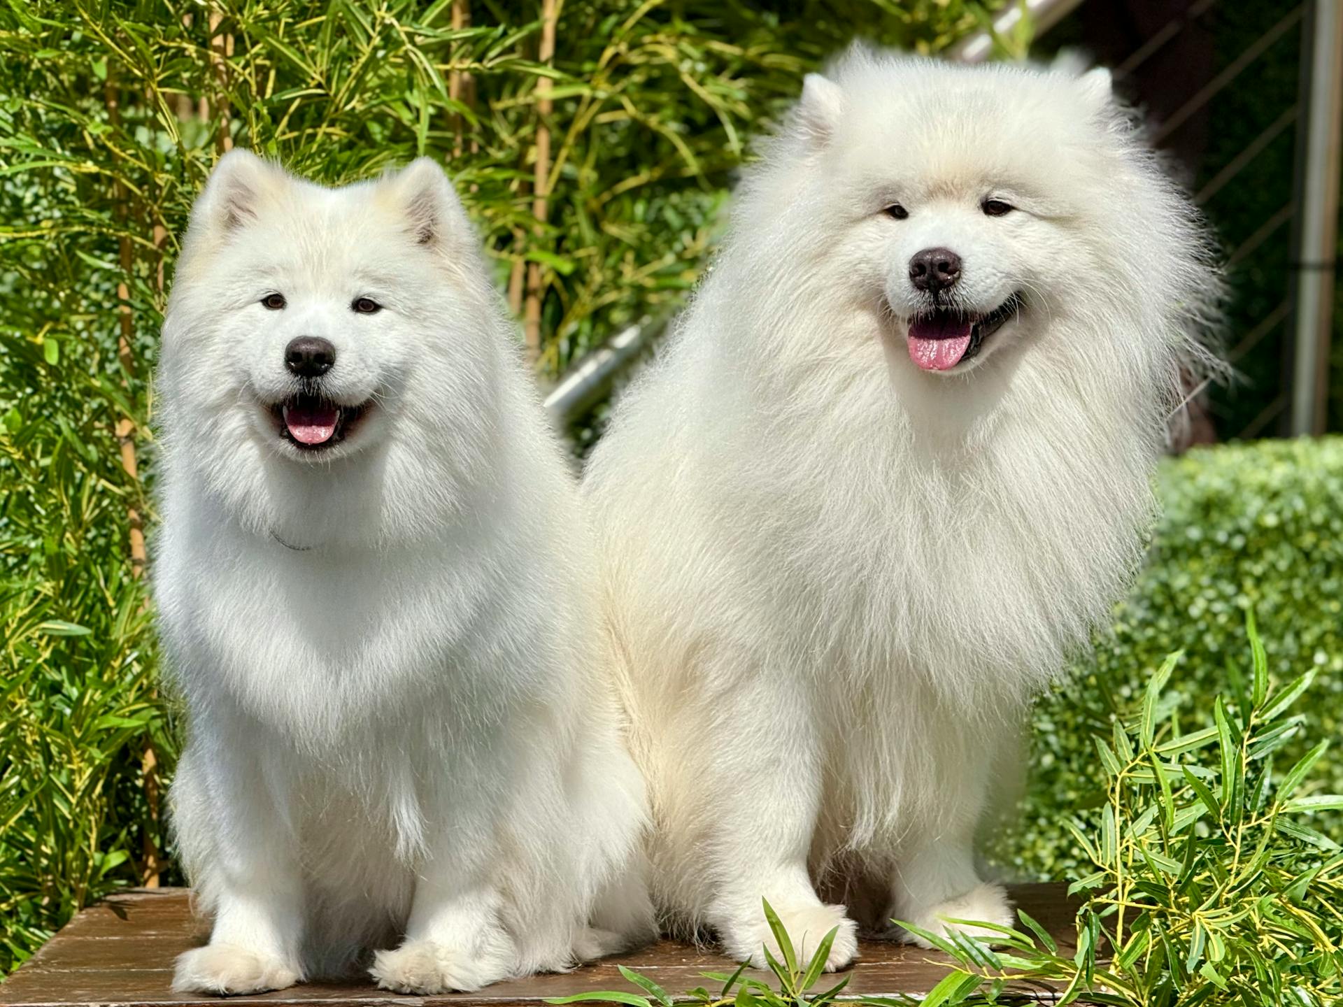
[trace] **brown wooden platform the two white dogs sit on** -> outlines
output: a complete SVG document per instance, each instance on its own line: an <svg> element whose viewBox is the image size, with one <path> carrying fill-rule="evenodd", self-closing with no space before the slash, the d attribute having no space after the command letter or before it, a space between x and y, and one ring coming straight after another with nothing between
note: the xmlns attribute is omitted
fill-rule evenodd
<svg viewBox="0 0 1343 1007"><path fill-rule="evenodd" d="M1025 885L1013 889L1017 904L1038 920L1070 953L1073 912L1062 885ZM0 984L0 1006L54 1007L55 1004L215 1004L219 998L175 994L168 986L173 959L204 943L205 924L193 917L185 889L137 889L117 894L77 916L31 960ZM945 959L885 941L865 941L851 969L845 996L896 996L927 994L945 975ZM309 983L270 994L227 998L232 1004L453 1004L454 1007L539 1007L547 996L592 990L639 992L619 973L618 965L643 972L673 996L696 986L709 986L704 971L728 971L727 959L676 941L661 941L629 955L604 959L565 975L497 983L474 994L406 996L377 990L372 983ZM763 977L763 976L761 976ZM821 988L830 983L822 980ZM1054 1000L1049 991L1022 991L1039 1003Z"/></svg>

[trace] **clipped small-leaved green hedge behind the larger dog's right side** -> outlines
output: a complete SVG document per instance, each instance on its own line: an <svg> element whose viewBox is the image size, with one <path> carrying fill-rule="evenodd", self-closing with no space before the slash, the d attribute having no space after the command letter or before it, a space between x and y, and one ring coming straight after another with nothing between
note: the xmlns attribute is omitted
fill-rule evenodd
<svg viewBox="0 0 1343 1007"><path fill-rule="evenodd" d="M1103 800L1092 738L1109 734L1115 710L1142 697L1176 647L1185 658L1166 706L1179 705L1190 730L1211 724L1225 683L1240 691L1248 611L1277 682L1319 669L1283 763L1343 729L1343 438L1191 451L1162 466L1159 493L1151 556L1113 632L1037 706L1023 818L997 851L1010 870L1064 877L1081 866L1061 822ZM1327 755L1317 776L1343 792L1343 760Z"/></svg>

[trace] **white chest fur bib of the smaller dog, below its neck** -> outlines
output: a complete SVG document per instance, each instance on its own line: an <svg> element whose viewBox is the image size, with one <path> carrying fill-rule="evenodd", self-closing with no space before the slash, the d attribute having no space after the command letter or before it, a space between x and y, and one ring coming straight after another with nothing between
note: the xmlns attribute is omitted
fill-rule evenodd
<svg viewBox="0 0 1343 1007"><path fill-rule="evenodd" d="M161 603L192 691L286 733L340 738L396 714L391 702L494 685L471 661L494 585L470 549L291 550L196 530L188 549L165 550L191 569L163 571L172 591Z"/></svg>

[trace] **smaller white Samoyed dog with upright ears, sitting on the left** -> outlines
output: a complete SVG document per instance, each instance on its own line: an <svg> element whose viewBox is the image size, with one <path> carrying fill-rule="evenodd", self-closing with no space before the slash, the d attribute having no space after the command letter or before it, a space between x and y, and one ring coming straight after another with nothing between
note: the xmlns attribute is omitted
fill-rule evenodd
<svg viewBox="0 0 1343 1007"><path fill-rule="evenodd" d="M192 212L154 593L214 930L177 990L475 990L653 934L591 536L475 243L430 160L232 152Z"/></svg>

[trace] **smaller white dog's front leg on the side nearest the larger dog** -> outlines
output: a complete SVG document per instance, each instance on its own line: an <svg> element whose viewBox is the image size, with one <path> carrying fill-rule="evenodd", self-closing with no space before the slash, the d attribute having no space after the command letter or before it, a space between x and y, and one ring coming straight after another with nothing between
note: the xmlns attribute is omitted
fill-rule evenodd
<svg viewBox="0 0 1343 1007"><path fill-rule="evenodd" d="M498 841L488 792L477 788L467 796L459 789L438 803L450 820L439 823L415 881L406 939L395 951L377 952L369 969L384 990L469 992L517 971L493 879Z"/></svg>

